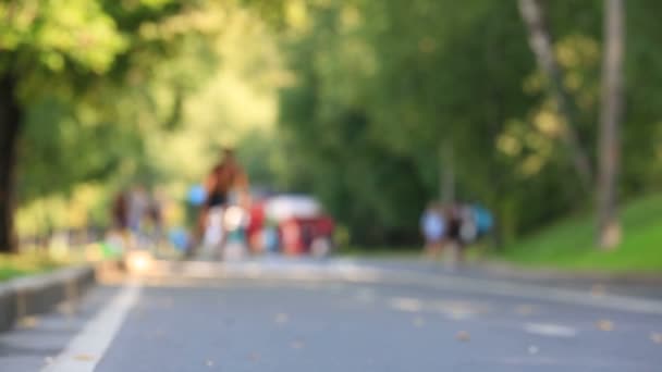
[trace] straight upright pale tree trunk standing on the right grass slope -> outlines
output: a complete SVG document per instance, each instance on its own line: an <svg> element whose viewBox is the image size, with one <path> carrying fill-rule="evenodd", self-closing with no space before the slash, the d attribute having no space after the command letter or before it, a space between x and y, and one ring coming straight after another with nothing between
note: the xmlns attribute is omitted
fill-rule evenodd
<svg viewBox="0 0 662 372"><path fill-rule="evenodd" d="M602 249L614 249L621 243L616 186L621 152L618 127L623 116L624 34L623 0L605 0L598 178L598 245Z"/></svg>

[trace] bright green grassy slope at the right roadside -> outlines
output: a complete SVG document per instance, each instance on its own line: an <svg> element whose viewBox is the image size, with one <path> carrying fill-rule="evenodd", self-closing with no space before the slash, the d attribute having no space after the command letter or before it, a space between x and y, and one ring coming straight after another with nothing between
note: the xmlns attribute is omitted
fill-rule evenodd
<svg viewBox="0 0 662 372"><path fill-rule="evenodd" d="M497 258L529 266L662 273L662 195L626 203L622 223L623 241L614 251L596 248L593 218L577 216L519 240Z"/></svg>

